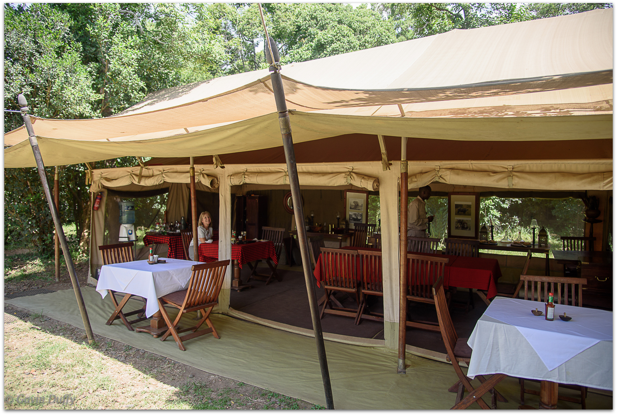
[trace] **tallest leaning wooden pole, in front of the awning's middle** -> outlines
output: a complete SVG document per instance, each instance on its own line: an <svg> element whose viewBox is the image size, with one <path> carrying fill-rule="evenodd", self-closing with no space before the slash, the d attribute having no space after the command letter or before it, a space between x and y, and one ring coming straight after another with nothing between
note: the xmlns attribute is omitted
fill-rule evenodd
<svg viewBox="0 0 617 415"><path fill-rule="evenodd" d="M302 195L300 194L300 182L298 180L298 169L296 166L296 154L294 153L294 140L291 135L291 120L285 101L285 91L283 90L283 79L281 78L281 65L278 54L278 47L273 38L268 36L268 30L263 20L262 5L259 5L259 13L262 18L263 30L265 31L266 61L270 64L270 80L276 101L276 111L278 111L278 122L281 127L281 137L283 138L283 149L285 160L287 161L287 171L289 174L289 185L291 187L291 198L294 204L294 217L296 218L296 228L298 231L298 242L300 254L302 256L302 269L304 269L304 281L307 286L309 296L309 306L311 319L313 321L313 333L317 343L317 356L321 367L321 380L326 396L326 408L334 409L334 398L332 396L332 386L330 384L330 374L328 371L328 359L326 358L326 348L323 343L323 332L321 331L321 320L318 316L317 296L315 296L315 277L310 266L309 239L307 238L306 228L304 227L304 206L302 206Z"/></svg>

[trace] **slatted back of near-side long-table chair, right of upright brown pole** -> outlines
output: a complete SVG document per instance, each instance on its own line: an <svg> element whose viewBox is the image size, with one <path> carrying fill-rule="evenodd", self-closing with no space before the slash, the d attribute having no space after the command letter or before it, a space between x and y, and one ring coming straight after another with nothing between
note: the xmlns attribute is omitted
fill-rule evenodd
<svg viewBox="0 0 617 415"><path fill-rule="evenodd" d="M449 258L407 254L407 295L408 297L433 298L431 287L439 277L445 275L445 264Z"/></svg>

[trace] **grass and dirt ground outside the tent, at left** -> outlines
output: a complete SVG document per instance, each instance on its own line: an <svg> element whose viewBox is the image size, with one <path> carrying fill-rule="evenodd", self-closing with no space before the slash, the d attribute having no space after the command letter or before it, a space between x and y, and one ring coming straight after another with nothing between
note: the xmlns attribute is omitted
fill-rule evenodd
<svg viewBox="0 0 617 415"><path fill-rule="evenodd" d="M88 264L76 274L86 285ZM54 280L53 261L5 253L4 293L72 288ZM17 314L18 317L15 317ZM6 305L5 409L325 409Z"/></svg>

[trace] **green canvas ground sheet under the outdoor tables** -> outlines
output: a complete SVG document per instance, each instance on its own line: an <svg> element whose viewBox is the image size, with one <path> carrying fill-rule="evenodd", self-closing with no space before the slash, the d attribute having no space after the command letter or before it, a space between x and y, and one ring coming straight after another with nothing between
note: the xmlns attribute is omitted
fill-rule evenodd
<svg viewBox="0 0 617 415"><path fill-rule="evenodd" d="M160 338L153 338L148 333L127 330L119 320L106 325L114 311L111 300L107 297L101 299L91 287L83 287L81 291L94 333L202 371L325 406L317 348L311 337L214 314L212 322L221 338L217 340L212 335L197 337L184 342L186 351L180 351L172 337L161 342ZM73 290L25 296L6 303L42 312L52 319L83 329ZM138 304L143 303L131 300L126 309L139 308ZM192 322L190 320L189 324ZM186 325L181 324L181 327ZM387 348L326 341L326 354L336 409L448 409L454 405L455 393L448 392L448 388L458 378L450 364L407 354L407 374L400 375L396 373L397 352ZM478 381L475 380L474 384ZM539 384L531 387L536 386L539 388ZM499 409L518 408L517 379L506 378L497 390L509 401L498 403ZM573 391L563 390L563 393L576 396ZM490 405L491 396L485 395L484 400ZM526 395L525 403L537 406L538 398ZM580 409L581 406L559 401L558 408ZM611 409L612 397L589 393L587 408ZM474 404L470 409L479 409L479 406Z"/></svg>

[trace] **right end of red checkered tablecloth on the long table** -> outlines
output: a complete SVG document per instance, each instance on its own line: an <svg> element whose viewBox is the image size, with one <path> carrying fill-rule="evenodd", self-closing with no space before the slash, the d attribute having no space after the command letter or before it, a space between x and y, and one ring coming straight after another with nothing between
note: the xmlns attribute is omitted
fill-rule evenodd
<svg viewBox="0 0 617 415"><path fill-rule="evenodd" d="M452 287L488 291L486 298L497 295L497 280L502 276L497 259L459 256L448 268L448 283Z"/></svg>

